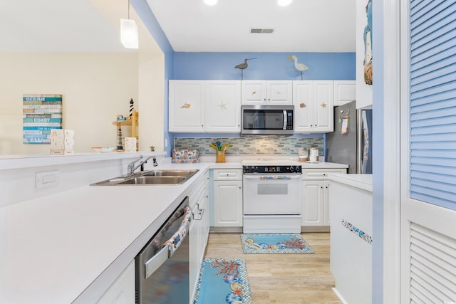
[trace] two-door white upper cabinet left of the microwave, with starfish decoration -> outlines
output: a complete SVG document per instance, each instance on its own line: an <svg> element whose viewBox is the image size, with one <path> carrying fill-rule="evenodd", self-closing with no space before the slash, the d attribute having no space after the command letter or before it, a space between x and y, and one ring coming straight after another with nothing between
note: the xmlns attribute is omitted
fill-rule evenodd
<svg viewBox="0 0 456 304"><path fill-rule="evenodd" d="M170 132L240 132L240 80L170 80Z"/></svg>

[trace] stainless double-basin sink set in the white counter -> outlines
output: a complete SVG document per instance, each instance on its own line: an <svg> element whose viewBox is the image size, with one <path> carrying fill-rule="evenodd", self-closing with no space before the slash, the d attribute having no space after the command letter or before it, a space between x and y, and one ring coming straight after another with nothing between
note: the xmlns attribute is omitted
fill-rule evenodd
<svg viewBox="0 0 456 304"><path fill-rule="evenodd" d="M183 184L199 170L152 170L132 174L128 177L115 177L90 186L131 186L131 185L170 185Z"/></svg>

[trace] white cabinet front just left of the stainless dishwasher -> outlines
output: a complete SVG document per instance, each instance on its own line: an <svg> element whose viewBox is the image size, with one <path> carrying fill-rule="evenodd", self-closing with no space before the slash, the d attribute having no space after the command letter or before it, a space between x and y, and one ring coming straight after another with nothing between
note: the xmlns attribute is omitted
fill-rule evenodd
<svg viewBox="0 0 456 304"><path fill-rule="evenodd" d="M97 304L135 304L135 260L115 279Z"/></svg>

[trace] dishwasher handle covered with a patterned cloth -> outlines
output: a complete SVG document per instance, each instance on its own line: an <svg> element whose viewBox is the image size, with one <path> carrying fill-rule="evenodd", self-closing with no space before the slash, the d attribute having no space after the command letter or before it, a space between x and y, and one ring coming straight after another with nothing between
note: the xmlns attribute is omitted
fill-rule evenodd
<svg viewBox="0 0 456 304"><path fill-rule="evenodd" d="M192 221L192 208L187 206L185 209L185 216L180 224L179 229L172 235L172 237L163 243L160 251L155 253L152 258L145 262L145 278L152 276L152 273L155 273L157 269L162 266L163 263L167 261L168 258L177 251L177 248L185 240L185 237L188 234L190 229L190 221Z"/></svg>

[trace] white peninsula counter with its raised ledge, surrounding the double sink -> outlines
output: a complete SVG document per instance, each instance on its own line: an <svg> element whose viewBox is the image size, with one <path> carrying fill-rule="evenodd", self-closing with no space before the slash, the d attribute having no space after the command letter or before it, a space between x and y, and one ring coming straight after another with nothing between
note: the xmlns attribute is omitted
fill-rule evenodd
<svg viewBox="0 0 456 304"><path fill-rule="evenodd" d="M89 186L125 174L126 164L140 154L156 155L156 169L199 172L182 185ZM164 155L0 158L1 199L9 203L0 207L0 303L94 303L205 170L242 168L239 159L171 164L170 158L158 158ZM58 189L35 189L36 172L52 170L58 172Z"/></svg>

